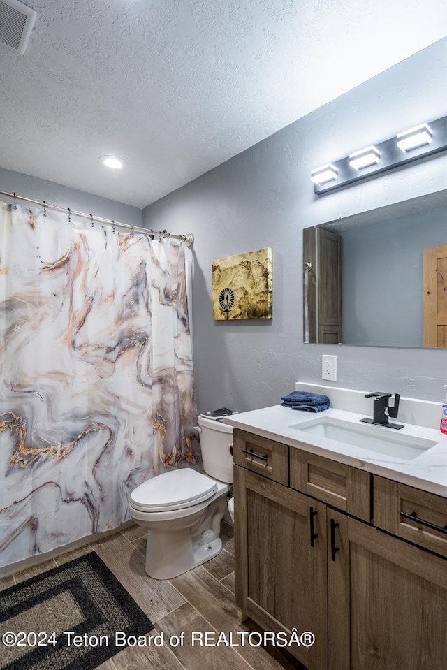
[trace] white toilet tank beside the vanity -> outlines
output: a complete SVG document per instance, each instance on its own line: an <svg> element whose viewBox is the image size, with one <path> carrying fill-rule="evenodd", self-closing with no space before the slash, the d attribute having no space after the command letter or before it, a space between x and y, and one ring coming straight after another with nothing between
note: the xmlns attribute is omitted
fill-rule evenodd
<svg viewBox="0 0 447 670"><path fill-rule="evenodd" d="M210 477L228 484L233 483L233 426L214 421L200 414L197 420L200 430L200 449L203 469Z"/></svg>

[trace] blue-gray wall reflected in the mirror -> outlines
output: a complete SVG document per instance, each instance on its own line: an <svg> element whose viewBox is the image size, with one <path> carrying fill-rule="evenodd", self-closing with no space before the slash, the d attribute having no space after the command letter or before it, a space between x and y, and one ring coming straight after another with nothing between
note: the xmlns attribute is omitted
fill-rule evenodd
<svg viewBox="0 0 447 670"><path fill-rule="evenodd" d="M342 240L343 343L422 347L423 249L447 244L447 207L353 228Z"/></svg>

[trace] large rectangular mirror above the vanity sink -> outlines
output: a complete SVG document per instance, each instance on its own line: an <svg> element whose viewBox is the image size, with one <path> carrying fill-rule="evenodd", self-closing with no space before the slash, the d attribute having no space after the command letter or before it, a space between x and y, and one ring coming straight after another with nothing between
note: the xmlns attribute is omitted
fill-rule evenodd
<svg viewBox="0 0 447 670"><path fill-rule="evenodd" d="M305 228L303 256L305 342L447 347L447 191Z"/></svg>

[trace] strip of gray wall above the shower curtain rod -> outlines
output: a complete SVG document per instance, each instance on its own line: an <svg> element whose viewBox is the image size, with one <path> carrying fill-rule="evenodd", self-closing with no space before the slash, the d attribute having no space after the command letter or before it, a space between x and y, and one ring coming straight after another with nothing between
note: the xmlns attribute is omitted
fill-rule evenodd
<svg viewBox="0 0 447 670"><path fill-rule="evenodd" d="M1 160L1 157L0 157ZM69 160L69 158L67 159ZM70 207L71 210L82 212L82 214L93 214L103 219L114 219L122 224L130 226L142 226L142 210L131 205L123 205L108 198L94 196L78 189L70 189L61 184L54 184L44 179L22 175L0 168L0 190L16 193L17 195L31 198L31 200L43 201L59 207ZM0 195L3 202L10 198ZM27 205L17 201L18 204Z"/></svg>

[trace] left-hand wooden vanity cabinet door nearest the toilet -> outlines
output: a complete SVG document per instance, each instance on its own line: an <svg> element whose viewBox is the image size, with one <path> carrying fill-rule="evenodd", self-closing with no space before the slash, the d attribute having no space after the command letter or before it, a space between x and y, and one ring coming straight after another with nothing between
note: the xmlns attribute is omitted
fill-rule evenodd
<svg viewBox="0 0 447 670"><path fill-rule="evenodd" d="M314 645L288 651L325 669L325 505L237 465L234 491L237 605L265 630L312 632Z"/></svg>

